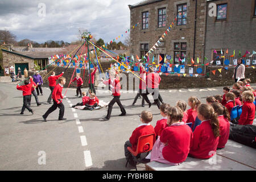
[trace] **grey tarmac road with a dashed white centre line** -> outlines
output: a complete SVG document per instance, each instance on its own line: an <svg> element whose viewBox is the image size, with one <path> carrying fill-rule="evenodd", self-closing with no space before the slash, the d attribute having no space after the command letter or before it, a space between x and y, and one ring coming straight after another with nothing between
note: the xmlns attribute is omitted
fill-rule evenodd
<svg viewBox="0 0 256 182"><path fill-rule="evenodd" d="M139 99L132 107L136 92L123 92L121 102L127 115L119 117L121 112L115 104L112 118L99 121L105 117L107 108L95 111L73 109L71 105L81 102L81 98L75 97L75 89L68 89L67 98L63 100L64 117L67 120L57 120L57 109L49 115L48 122L43 122L42 115L51 106L46 102L50 90L43 88L43 96L39 96L42 102L40 106L36 106L32 96L34 115L27 110L24 115L20 115L23 96L15 86L12 83L0 83L0 170L134 171L129 164L125 167L123 145L140 124L138 115L142 110L151 110L154 114L152 126L161 118L156 105L150 109L147 105L141 107ZM251 86L255 88L256 84ZM63 89L63 93L66 90ZM164 102L171 105L175 105L177 100L187 101L190 96L197 96L205 103L207 96L222 94L222 87L160 90L160 94ZM110 95L97 92L98 98L105 102L112 99ZM42 164L42 161L46 163ZM139 164L137 168L145 170L144 164Z"/></svg>

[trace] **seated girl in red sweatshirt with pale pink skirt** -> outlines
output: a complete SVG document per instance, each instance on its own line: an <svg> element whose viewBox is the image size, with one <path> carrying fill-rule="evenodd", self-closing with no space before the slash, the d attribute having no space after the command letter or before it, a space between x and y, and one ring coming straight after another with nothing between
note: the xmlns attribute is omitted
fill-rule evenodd
<svg viewBox="0 0 256 182"><path fill-rule="evenodd" d="M187 159L193 133L191 128L182 122L183 111L179 107L169 107L167 115L167 127L156 140L150 161L178 165Z"/></svg>

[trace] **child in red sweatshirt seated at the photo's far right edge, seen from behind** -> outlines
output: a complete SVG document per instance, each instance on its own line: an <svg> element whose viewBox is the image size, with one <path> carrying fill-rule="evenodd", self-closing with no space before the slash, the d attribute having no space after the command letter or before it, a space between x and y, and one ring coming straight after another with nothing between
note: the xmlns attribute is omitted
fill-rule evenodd
<svg viewBox="0 0 256 182"><path fill-rule="evenodd" d="M250 90L243 92L242 100L242 114L238 120L238 125L253 125L253 120L255 117L255 105L253 104L255 97L253 92Z"/></svg>

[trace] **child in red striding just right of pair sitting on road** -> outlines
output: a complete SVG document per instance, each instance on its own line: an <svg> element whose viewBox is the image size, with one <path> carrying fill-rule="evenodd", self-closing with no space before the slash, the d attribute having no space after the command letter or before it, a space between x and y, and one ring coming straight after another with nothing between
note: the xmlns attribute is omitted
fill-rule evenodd
<svg viewBox="0 0 256 182"><path fill-rule="evenodd" d="M104 121L108 121L110 119L111 113L112 113L112 108L113 105L115 104L115 102L117 102L118 106L121 109L121 114L119 114L119 116L123 116L126 115L126 110L125 107L123 107L121 101L120 101L120 81L118 78L115 78L115 73L114 72L110 72L110 79L108 81L105 81L101 78L103 84L105 85L110 85L110 88L112 88L112 93L113 93L113 99L112 101L109 102L109 106L108 106L108 114L106 115L105 118L102 118Z"/></svg>

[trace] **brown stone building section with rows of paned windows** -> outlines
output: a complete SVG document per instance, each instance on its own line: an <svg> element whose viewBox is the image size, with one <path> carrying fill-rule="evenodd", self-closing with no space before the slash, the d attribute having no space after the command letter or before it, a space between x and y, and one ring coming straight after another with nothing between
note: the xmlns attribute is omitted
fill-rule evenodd
<svg viewBox="0 0 256 182"><path fill-rule="evenodd" d="M129 8L131 54L144 56L177 18L172 30L154 51L155 62L159 62L159 55L172 56L174 63L179 63L179 57L185 59L186 63L191 63L191 59L195 60L197 57L200 62L203 61L205 0L146 0L129 5ZM135 22L141 22L139 27L133 28Z"/></svg>

